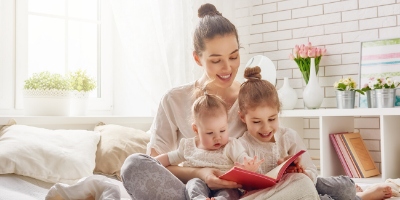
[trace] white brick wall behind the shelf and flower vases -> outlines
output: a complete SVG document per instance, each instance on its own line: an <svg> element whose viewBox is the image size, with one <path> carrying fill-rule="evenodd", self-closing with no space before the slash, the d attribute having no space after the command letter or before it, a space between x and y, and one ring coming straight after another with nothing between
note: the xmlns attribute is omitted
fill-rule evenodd
<svg viewBox="0 0 400 200"><path fill-rule="evenodd" d="M246 59L241 69L253 55L269 57L277 68L277 88L284 77L295 88L299 96L296 109L304 107L304 80L296 63L288 59L296 44L311 42L327 48L318 76L325 92L321 109L331 109L336 108L333 83L348 76L358 81L359 42L400 35L400 0L235 1L236 18L243 18L235 22L246 42L243 46L250 44L245 51L249 53L241 55ZM380 167L379 118L355 117L354 126ZM318 119L304 119L304 143L311 156L319 157Z"/></svg>

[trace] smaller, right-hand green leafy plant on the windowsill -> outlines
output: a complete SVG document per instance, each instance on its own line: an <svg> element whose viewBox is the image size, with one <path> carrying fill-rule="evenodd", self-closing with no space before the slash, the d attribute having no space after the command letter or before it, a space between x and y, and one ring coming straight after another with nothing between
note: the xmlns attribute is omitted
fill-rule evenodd
<svg viewBox="0 0 400 200"><path fill-rule="evenodd" d="M86 70L79 69L68 74L72 90L89 92L97 87L96 80L86 74Z"/></svg>

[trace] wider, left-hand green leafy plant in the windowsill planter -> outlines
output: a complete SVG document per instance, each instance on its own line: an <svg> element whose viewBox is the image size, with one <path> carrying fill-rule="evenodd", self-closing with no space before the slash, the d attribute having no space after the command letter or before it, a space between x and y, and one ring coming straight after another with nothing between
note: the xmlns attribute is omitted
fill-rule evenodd
<svg viewBox="0 0 400 200"><path fill-rule="evenodd" d="M50 73L48 71L34 73L32 77L25 80L24 89L36 90L70 90L71 85L68 79L57 73Z"/></svg>

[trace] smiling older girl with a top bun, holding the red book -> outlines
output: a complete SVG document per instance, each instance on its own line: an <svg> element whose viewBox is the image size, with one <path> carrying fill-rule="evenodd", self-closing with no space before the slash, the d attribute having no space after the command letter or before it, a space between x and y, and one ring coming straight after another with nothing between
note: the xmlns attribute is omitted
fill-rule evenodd
<svg viewBox="0 0 400 200"><path fill-rule="evenodd" d="M239 141L250 157L265 159L257 172L265 174L301 150L307 150L299 135L290 128L279 126L280 102L275 87L261 80L259 67L246 68L239 90L239 115L247 130ZM345 176L317 177L317 168L308 152L294 161L296 166L286 172L304 173L314 182L321 200L325 199L384 199L390 198L390 187L377 187L372 192L358 192L354 182ZM356 192L357 195L356 195ZM360 198L361 197L361 198Z"/></svg>

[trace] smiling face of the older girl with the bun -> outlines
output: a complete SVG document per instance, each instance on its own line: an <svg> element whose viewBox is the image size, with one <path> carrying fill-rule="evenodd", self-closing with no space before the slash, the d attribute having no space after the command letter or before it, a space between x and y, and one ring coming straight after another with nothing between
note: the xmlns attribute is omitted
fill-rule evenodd
<svg viewBox="0 0 400 200"><path fill-rule="evenodd" d="M274 142L274 134L279 129L278 110L270 106L248 109L240 118L247 125L249 133L261 142ZM272 139L272 140L271 140Z"/></svg>

